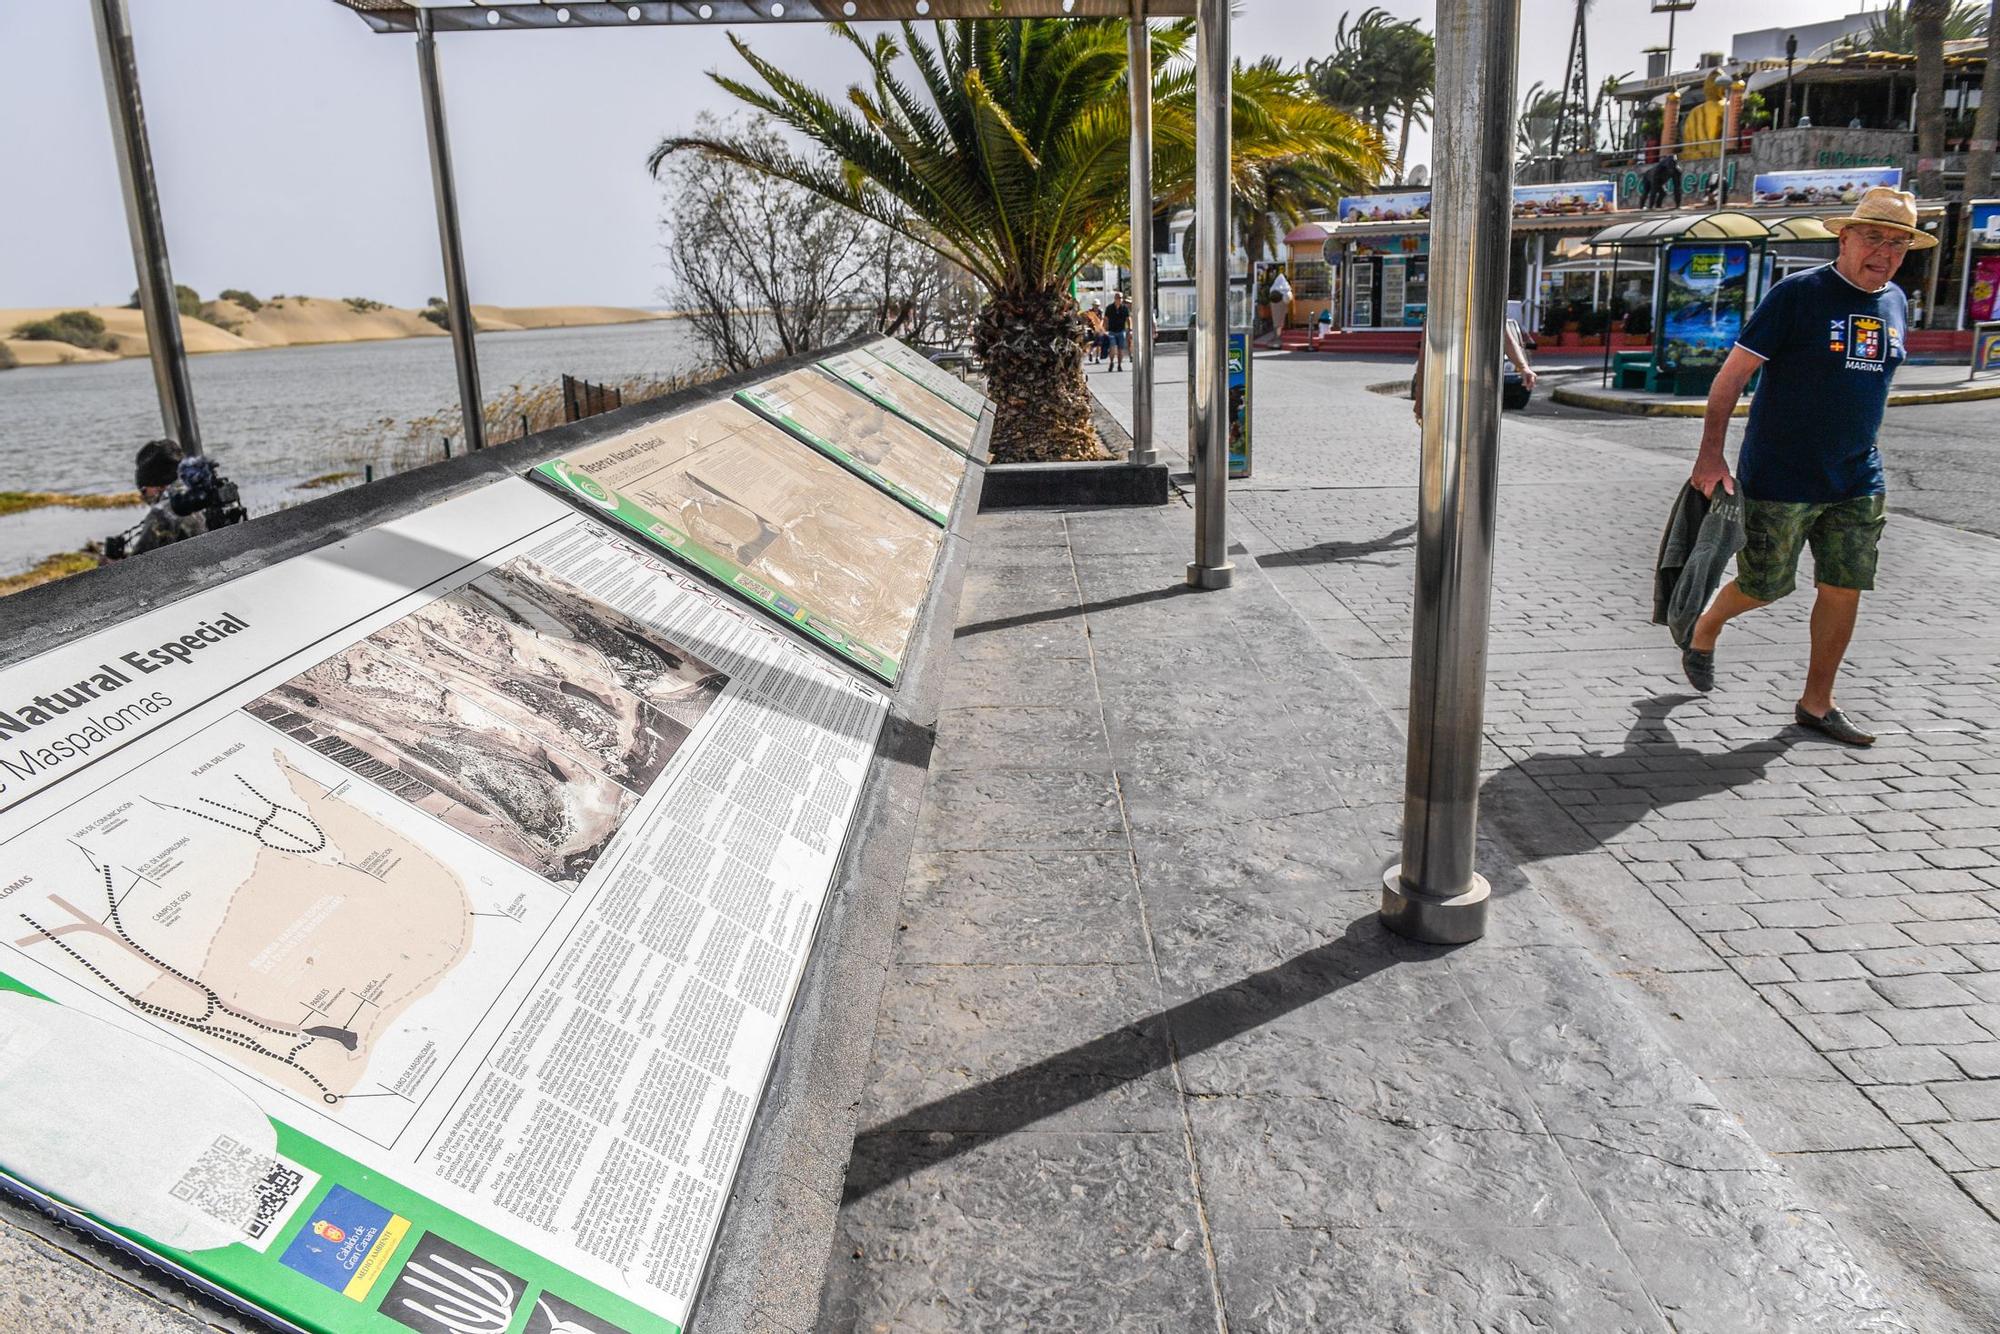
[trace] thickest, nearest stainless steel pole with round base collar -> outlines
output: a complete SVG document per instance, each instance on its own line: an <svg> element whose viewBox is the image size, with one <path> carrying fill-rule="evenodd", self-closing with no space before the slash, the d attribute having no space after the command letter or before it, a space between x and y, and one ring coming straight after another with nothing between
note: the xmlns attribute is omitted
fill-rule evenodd
<svg viewBox="0 0 2000 1334"><path fill-rule="evenodd" d="M1486 932L1472 868L1486 696L1520 0L1438 0L1430 320L1418 486L1402 864L1382 924L1462 944Z"/></svg>

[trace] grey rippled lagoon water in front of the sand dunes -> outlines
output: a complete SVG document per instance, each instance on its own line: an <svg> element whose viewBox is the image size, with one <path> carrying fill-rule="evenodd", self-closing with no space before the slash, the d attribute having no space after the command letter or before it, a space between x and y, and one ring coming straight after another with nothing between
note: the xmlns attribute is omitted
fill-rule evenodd
<svg viewBox="0 0 2000 1334"><path fill-rule="evenodd" d="M564 372L614 382L702 360L680 320L480 334L478 352L488 400L512 384L554 384ZM202 442L242 486L252 514L310 498L298 484L354 466L384 418L408 422L458 402L448 338L216 352L190 358L188 374ZM144 358L0 372L0 490L130 490L132 454L158 434ZM134 518L126 510L0 518L0 574Z"/></svg>

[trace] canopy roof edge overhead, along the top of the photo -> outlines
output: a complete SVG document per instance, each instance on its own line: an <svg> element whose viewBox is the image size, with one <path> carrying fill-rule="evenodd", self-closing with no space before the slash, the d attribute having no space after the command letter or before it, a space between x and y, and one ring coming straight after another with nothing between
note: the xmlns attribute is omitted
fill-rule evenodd
<svg viewBox="0 0 2000 1334"><path fill-rule="evenodd" d="M902 18L1188 18L1194 0L334 0L376 32L416 32L418 10L436 32L520 28L634 28L660 24L826 24Z"/></svg>

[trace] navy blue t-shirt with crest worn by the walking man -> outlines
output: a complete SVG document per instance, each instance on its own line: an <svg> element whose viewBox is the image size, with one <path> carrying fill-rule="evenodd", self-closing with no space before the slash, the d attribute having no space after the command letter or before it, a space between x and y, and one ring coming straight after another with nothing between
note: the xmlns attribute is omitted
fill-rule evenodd
<svg viewBox="0 0 2000 1334"><path fill-rule="evenodd" d="M1908 330L1902 288L1862 292L1832 264L1764 294L1736 340L1764 358L1736 460L1746 496L1830 502L1888 490L1874 438Z"/></svg>

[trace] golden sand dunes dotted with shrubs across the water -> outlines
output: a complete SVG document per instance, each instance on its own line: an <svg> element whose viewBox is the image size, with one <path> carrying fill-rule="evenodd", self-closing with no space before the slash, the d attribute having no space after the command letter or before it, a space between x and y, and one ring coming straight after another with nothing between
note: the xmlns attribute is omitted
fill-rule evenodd
<svg viewBox="0 0 2000 1334"><path fill-rule="evenodd" d="M100 352L66 342L12 338L30 322L46 320L62 310L88 310L104 320L104 330L116 338L116 348ZM580 328L590 324L638 324L670 320L658 310L628 306L474 306L478 332L510 332L524 328ZM60 366L80 362L116 362L146 356L146 320L124 306L46 306L32 310L0 310L0 338L22 366ZM242 352L248 348L296 348L322 342L378 342L384 338L444 338L444 330L418 310L346 302L326 296L284 296L248 310L236 302L214 300L202 306L202 318L180 318L180 338L188 352Z"/></svg>

